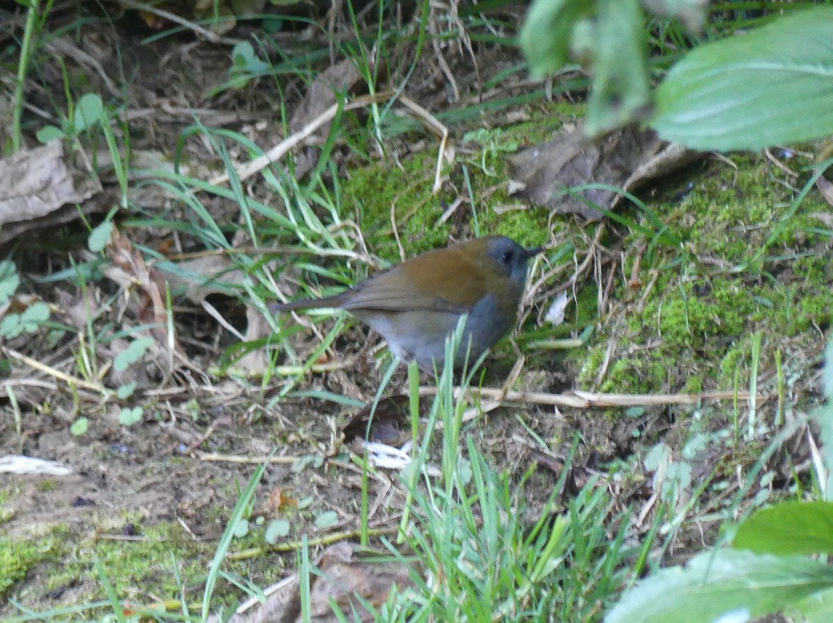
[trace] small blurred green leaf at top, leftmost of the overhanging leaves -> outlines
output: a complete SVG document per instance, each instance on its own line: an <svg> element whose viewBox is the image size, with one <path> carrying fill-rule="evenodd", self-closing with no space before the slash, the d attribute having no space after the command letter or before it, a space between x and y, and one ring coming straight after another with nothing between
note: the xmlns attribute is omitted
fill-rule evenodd
<svg viewBox="0 0 833 623"><path fill-rule="evenodd" d="M590 17L591 0L536 0L521 29L521 47L532 73L542 76L566 65L573 27Z"/></svg>

